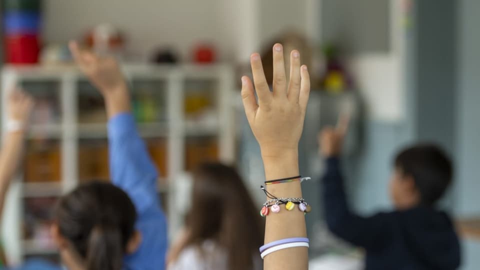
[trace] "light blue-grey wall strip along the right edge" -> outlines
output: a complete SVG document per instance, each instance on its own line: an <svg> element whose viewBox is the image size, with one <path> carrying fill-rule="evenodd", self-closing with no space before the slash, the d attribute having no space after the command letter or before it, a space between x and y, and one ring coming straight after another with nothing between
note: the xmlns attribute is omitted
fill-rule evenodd
<svg viewBox="0 0 480 270"><path fill-rule="evenodd" d="M480 215L480 1L461 0L458 9L457 155L460 215ZM479 263L480 265L480 263Z"/></svg>

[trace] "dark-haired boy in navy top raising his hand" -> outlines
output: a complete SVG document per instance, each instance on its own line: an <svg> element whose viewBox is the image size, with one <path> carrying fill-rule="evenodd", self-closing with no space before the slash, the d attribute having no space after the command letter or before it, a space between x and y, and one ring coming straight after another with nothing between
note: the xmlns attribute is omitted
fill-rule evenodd
<svg viewBox="0 0 480 270"><path fill-rule="evenodd" d="M365 269L453 270L460 265L460 247L450 216L435 208L452 182L453 166L434 144L415 144L393 162L390 197L394 210L364 217L348 206L340 170L340 152L348 126L319 135L326 171L322 179L328 228L336 236L366 250Z"/></svg>

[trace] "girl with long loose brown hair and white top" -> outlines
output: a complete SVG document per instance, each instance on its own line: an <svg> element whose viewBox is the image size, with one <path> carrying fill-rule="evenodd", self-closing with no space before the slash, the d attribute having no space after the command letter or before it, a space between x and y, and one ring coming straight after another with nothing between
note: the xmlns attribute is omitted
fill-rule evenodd
<svg viewBox="0 0 480 270"><path fill-rule="evenodd" d="M186 228L167 269L261 269L262 220L236 170L206 163L193 174Z"/></svg>

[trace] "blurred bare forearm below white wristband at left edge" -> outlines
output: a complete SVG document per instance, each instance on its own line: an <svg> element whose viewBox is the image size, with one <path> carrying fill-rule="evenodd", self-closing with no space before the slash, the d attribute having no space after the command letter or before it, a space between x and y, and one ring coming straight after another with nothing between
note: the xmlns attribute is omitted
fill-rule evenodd
<svg viewBox="0 0 480 270"><path fill-rule="evenodd" d="M23 148L23 132L9 132L0 152L0 216L8 186L13 178Z"/></svg>

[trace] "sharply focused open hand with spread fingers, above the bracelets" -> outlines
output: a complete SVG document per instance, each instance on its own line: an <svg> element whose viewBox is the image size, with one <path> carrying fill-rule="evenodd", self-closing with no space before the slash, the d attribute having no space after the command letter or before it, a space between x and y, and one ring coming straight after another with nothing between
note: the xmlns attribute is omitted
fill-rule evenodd
<svg viewBox="0 0 480 270"><path fill-rule="evenodd" d="M250 56L255 89L247 76L241 78L246 117L263 157L297 154L310 92L307 67L300 67L297 50L290 53L290 81L287 85L282 50L281 44L273 46L273 92L266 82L258 53Z"/></svg>

